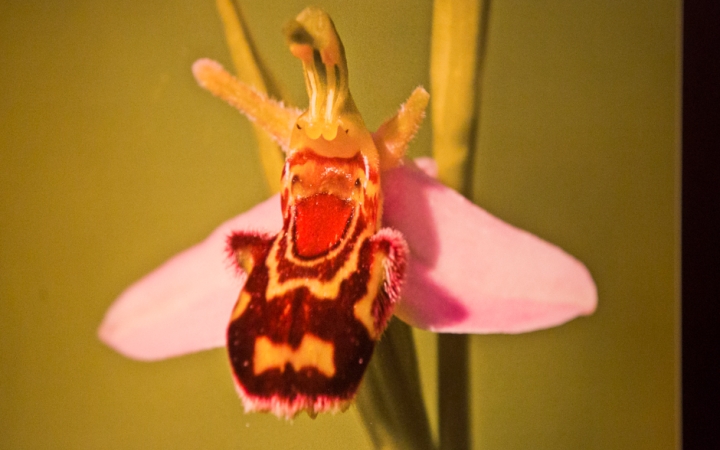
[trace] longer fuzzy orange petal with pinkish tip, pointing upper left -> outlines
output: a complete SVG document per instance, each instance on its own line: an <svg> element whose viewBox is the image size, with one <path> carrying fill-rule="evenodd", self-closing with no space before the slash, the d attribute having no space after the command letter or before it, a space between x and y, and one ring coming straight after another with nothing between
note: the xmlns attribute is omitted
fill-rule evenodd
<svg viewBox="0 0 720 450"><path fill-rule="evenodd" d="M272 100L256 88L238 81L220 63L199 59L192 67L198 84L245 114L278 145L287 149L290 134L300 111ZM280 176L278 172L277 176Z"/></svg>

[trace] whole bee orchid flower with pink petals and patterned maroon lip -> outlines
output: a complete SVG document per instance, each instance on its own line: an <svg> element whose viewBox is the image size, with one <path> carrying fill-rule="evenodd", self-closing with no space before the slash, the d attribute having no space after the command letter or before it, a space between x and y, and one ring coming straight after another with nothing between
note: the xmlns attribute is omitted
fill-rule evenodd
<svg viewBox="0 0 720 450"><path fill-rule="evenodd" d="M100 327L103 342L139 360L228 346L246 410L292 417L347 406L391 314L439 333L521 333L594 311L596 288L580 261L438 182L432 160L404 157L427 92L416 89L371 134L350 96L329 17L308 8L286 35L303 64L306 111L269 99L214 61L193 66L201 86L285 150L281 192L127 288ZM300 269L312 261L337 262L340 275L328 281L320 269ZM321 312L313 305L344 299L329 292L355 282L362 289L357 298L347 294L349 315L315 323ZM295 340L267 330L282 326L285 313L275 324L257 312L279 298L296 299L292 305L304 311L302 320L288 313L295 321L288 326L301 329ZM318 331L327 329L332 336ZM345 356L352 361L341 361ZM263 378L268 373L275 378ZM335 383L322 385L322 395L313 390L320 378ZM340 378L346 381L337 387ZM294 393L281 394L288 383ZM268 394L255 384L275 387ZM339 390L327 394L331 385Z"/></svg>

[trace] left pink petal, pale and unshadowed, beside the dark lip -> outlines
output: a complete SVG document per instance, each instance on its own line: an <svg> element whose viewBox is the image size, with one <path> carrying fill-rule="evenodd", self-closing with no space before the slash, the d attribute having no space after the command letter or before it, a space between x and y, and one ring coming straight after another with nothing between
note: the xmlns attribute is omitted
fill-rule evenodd
<svg viewBox="0 0 720 450"><path fill-rule="evenodd" d="M223 223L123 292L100 325L100 339L125 356L155 360L225 346L245 277L228 258L232 230L277 232L280 197Z"/></svg>

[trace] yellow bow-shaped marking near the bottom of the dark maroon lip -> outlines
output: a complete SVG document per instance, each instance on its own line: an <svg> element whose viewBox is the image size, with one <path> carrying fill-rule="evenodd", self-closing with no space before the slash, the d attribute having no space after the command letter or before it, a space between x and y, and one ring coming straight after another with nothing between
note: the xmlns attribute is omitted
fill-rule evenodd
<svg viewBox="0 0 720 450"><path fill-rule="evenodd" d="M253 373L259 375L266 370L285 370L290 363L295 371L303 367L314 367L327 377L335 375L335 346L332 342L306 334L300 341L300 347L293 350L287 344L275 344L266 336L255 339L255 355L253 356Z"/></svg>

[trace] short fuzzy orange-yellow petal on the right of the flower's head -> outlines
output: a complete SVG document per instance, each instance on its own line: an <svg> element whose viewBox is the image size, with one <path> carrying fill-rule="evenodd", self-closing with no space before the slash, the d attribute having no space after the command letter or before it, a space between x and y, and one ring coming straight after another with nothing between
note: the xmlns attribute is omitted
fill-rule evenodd
<svg viewBox="0 0 720 450"><path fill-rule="evenodd" d="M382 170L397 166L405 156L408 144L415 137L425 118L428 101L430 101L430 94L422 87L415 88L398 113L385 121L373 133L373 141L380 152Z"/></svg>

